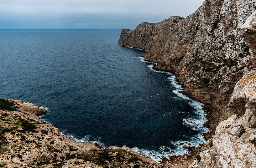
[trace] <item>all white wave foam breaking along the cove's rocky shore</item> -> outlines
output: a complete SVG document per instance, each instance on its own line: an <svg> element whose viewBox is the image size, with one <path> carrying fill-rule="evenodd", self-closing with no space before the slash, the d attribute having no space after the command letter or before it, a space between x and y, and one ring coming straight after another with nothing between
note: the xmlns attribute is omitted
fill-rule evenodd
<svg viewBox="0 0 256 168"><path fill-rule="evenodd" d="M129 48L133 48L133 47L129 47ZM139 49L139 48L135 48L135 49ZM142 50L142 49L140 49L140 50ZM144 51L146 51L146 50L144 50ZM157 72L157 73L162 73L162 74L167 75L166 81L170 82L170 90L172 90L172 92L174 94L176 94L180 99L188 100L188 103L194 109L192 111L191 116L187 116L187 117L183 118L183 125L188 126L188 127L192 128L193 130L197 130L197 131L199 131L199 133L194 135L193 137L187 137L187 136L183 135L185 140L170 141L169 146L160 146L159 150L147 150L147 149L143 149L143 148L139 148L139 147L133 147L131 149L140 154L147 155L152 160L159 162L161 160L162 156L168 158L169 155L184 155L184 154L188 153L187 150L183 148L183 145L180 145L180 143L183 143L187 146L190 144L190 146L195 146L195 147L199 146L199 143L205 143L202 133L207 132L209 130L203 126L203 124L207 121L205 113L202 109L204 104L194 101L194 100L190 99L189 97L187 97L186 95L180 93L181 91L183 91L183 87L180 84L178 84L174 74L171 74L166 71L155 70L155 69L153 69L153 67L154 67L154 65L157 65L157 63L145 61L143 57L136 57L136 58L139 58L143 62L149 63L147 65L147 67L150 70ZM47 109L47 113L50 112L47 107L42 107L42 108ZM178 112L178 113L180 113L180 112ZM163 117L165 117L165 115ZM138 119L136 118L136 120L138 120ZM147 130L143 130L143 131L146 132ZM66 132L66 130L62 131L60 133L62 135L71 137L76 142L92 142L92 143L97 143L98 145L100 145L102 147L106 146L104 143L101 142L100 137L93 137L92 135L86 135L83 138L78 138L72 134L65 133L65 132ZM123 145L123 146L126 146L126 145ZM165 148L168 148L170 150L170 153L165 152L164 151Z"/></svg>

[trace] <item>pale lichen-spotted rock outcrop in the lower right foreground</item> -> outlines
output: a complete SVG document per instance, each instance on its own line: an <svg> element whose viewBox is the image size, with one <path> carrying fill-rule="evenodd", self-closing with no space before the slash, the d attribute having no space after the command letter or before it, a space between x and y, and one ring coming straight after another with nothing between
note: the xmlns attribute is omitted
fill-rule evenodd
<svg viewBox="0 0 256 168"><path fill-rule="evenodd" d="M256 70L246 72L235 86L230 103L240 106L241 102L245 110L217 126L209 140L211 148L191 168L256 167Z"/></svg>

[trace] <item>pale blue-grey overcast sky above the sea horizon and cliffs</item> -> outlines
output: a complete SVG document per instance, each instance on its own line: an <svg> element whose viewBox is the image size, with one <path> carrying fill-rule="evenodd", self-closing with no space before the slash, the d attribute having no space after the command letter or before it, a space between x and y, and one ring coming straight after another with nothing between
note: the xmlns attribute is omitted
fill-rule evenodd
<svg viewBox="0 0 256 168"><path fill-rule="evenodd" d="M134 29L186 17L204 0L0 0L0 29Z"/></svg>

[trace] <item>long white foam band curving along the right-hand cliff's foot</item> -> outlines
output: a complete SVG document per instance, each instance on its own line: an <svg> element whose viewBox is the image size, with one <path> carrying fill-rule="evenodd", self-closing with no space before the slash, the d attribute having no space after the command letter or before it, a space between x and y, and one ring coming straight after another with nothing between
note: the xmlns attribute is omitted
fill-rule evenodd
<svg viewBox="0 0 256 168"><path fill-rule="evenodd" d="M181 99L185 99L185 100L188 100L189 104L191 105L191 107L193 107L195 110L192 111L194 113L194 115L192 116L189 116L187 118L184 118L183 119L183 124L184 125L187 125L188 127L192 128L193 130L199 130L199 134L197 135L194 135L194 137L186 137L186 139L189 139L190 141L176 141L176 142L171 142L172 145L175 146L175 148L169 148L170 149L170 153L167 153L164 151L164 149L167 147L167 146L161 146L159 148L159 150L161 152L158 152L158 151L154 151L154 150L146 150L146 149L141 149L141 148L138 148L138 147L134 147L132 148L135 152L138 152L138 153L141 153L143 155L148 155L151 157L151 159L155 160L155 161L159 161L161 160L160 158L162 156L165 156L166 158L168 158L168 155L184 155L187 153L187 150L184 149L182 147L182 145L180 145L180 143L184 143L186 145L190 144L190 146L199 146L199 143L205 143L205 140L203 139L203 136L202 136L202 133L203 132L208 132L209 130L203 126L203 124L207 121L206 120L206 117L205 117L205 113L204 111L202 110L202 107L204 106L204 104L200 103L200 102L197 102L197 101L194 101L192 99L190 99L189 97L187 97L186 95L180 93L181 91L183 91L183 88L180 84L178 84L178 82L175 80L175 75L174 74L171 74L171 73L168 73L168 72L165 72L165 71L158 71L158 70L155 70L153 69L154 65L156 65L157 63L151 63L151 62L148 62L148 61L144 61L144 58L143 57L139 57L141 61L143 62L147 62L147 63L150 63L148 65L148 68L152 71L155 71L157 73L165 73L168 75L167 77L167 81L170 82L170 87L172 90L173 93L175 93L179 98ZM152 97L152 96L151 96ZM181 113L181 112L178 112L178 113ZM165 115L164 115L165 116ZM196 128L197 127L197 128ZM160 158L158 158L157 156L159 156Z"/></svg>

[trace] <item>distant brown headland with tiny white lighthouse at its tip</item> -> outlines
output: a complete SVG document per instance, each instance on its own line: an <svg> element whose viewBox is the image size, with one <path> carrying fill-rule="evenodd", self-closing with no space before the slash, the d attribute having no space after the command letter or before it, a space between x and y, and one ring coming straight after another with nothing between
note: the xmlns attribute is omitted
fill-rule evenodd
<svg viewBox="0 0 256 168"><path fill-rule="evenodd" d="M158 26L161 25L163 29L165 29L161 29L161 31L167 33L169 28L175 26L181 19L182 17L170 17L159 23L144 22L139 24L133 31L123 28L118 44L123 46L147 49L149 39L152 37L154 30L158 30ZM160 34L162 35L163 33Z"/></svg>

